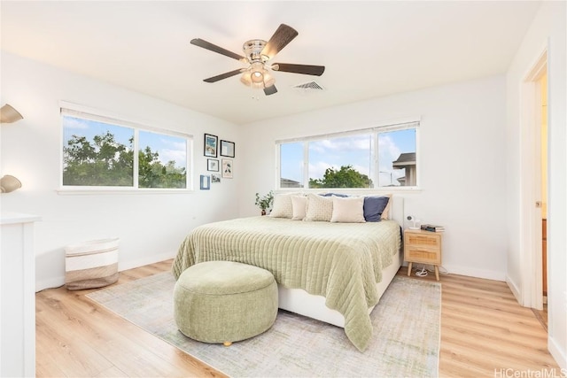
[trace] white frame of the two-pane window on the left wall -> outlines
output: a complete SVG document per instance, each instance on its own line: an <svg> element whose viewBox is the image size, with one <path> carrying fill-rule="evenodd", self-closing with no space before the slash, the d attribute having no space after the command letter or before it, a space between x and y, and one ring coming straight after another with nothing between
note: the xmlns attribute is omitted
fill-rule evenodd
<svg viewBox="0 0 567 378"><path fill-rule="evenodd" d="M63 117L71 116L82 118L84 120L97 120L109 123L113 126L128 127L134 131L134 141L132 143L133 154L133 180L132 186L81 186L81 185L63 185L64 172L64 148L65 148L65 132L63 127ZM139 167L139 132L147 131L155 134L175 136L183 138L186 141L186 168L185 168L185 188L139 188L138 187L138 167ZM193 144L194 137L191 134L173 131L167 128L150 127L136 120L126 120L117 114L103 112L87 106L67 103L61 101L59 103L59 178L58 178L58 194L174 194L174 193L192 193L194 192L193 182Z"/></svg>

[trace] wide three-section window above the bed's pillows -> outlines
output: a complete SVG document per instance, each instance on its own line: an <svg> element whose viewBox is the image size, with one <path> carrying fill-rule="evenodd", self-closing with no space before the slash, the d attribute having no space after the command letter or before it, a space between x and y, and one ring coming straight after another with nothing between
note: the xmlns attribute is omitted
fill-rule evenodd
<svg viewBox="0 0 567 378"><path fill-rule="evenodd" d="M285 188L417 187L419 122L278 141Z"/></svg>

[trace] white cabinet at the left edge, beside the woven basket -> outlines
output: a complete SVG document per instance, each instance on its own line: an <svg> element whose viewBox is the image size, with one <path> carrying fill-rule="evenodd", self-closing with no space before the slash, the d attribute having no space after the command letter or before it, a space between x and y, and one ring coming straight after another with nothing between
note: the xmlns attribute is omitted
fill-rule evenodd
<svg viewBox="0 0 567 378"><path fill-rule="evenodd" d="M35 376L34 223L2 212L0 233L0 376Z"/></svg>

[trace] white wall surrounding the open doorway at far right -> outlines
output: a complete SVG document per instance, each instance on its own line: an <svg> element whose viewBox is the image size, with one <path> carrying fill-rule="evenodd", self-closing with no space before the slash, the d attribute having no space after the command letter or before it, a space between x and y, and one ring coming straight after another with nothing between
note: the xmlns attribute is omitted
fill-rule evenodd
<svg viewBox="0 0 567 378"><path fill-rule="evenodd" d="M518 291L520 301L532 288L524 287L526 276L532 271L526 267L531 257L529 245L524 245L525 214L522 196L523 174L521 165L521 135L523 127L530 125L523 117L521 102L524 96L526 75L532 70L542 50L548 49L548 346L555 360L567 368L567 76L566 4L544 2L524 36L517 55L507 74L507 197L509 224L509 251L507 281ZM525 133L524 133L525 135ZM528 142L529 143L529 142ZM529 304L528 304L529 305Z"/></svg>

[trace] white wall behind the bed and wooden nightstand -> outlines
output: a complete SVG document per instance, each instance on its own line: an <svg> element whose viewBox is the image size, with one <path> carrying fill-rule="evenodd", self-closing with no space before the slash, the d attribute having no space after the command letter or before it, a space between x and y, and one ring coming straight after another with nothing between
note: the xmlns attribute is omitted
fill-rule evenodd
<svg viewBox="0 0 567 378"><path fill-rule="evenodd" d="M505 88L498 76L245 125L240 215L258 213L254 194L276 187L276 140L419 116L422 186L402 194L406 214L447 228L443 266L450 273L503 281Z"/></svg>

